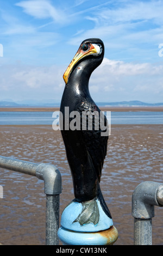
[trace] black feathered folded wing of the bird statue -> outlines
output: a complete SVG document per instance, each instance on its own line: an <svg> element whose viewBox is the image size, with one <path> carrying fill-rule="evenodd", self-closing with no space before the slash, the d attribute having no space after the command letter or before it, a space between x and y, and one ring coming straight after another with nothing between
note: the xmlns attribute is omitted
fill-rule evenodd
<svg viewBox="0 0 163 256"><path fill-rule="evenodd" d="M96 171L98 181L100 181L103 163L104 163L104 159L107 151L108 137L109 137L108 135L102 136L102 132L104 132L104 130L102 129L103 127L102 127L102 124L100 123L100 114L103 115L103 121L105 121L103 125L105 126L108 125L108 122L104 114L93 102L90 103L88 101L83 101L82 103L80 103L80 105L78 105L77 109L80 112L80 116L81 116L81 130L82 130L83 143L85 144L87 154L91 159L92 167ZM84 114L87 113L86 115L87 127L85 127L85 124L83 123L84 122L82 118L83 112ZM96 117L94 117L94 114L97 114ZM91 124L90 115L92 115L92 129L91 127L88 127L89 124ZM98 121L98 125L97 125L97 121ZM98 127L98 130L97 130L97 127Z"/></svg>

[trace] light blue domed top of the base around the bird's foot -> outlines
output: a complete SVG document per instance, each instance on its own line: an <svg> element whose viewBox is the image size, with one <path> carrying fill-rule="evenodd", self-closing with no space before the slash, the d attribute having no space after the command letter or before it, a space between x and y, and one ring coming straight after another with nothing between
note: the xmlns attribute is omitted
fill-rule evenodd
<svg viewBox="0 0 163 256"><path fill-rule="evenodd" d="M79 222L74 222L79 214L81 214L83 206L82 203L72 201L62 212L61 227L79 232L97 232L109 229L113 225L112 219L105 214L98 199L96 199L96 202L99 210L99 221L96 225L93 223L80 225Z"/></svg>

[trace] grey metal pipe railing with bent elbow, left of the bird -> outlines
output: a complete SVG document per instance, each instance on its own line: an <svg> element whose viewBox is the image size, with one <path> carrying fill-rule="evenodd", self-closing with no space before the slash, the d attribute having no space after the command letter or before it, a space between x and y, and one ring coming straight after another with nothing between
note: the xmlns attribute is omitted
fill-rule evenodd
<svg viewBox="0 0 163 256"><path fill-rule="evenodd" d="M0 168L14 170L44 181L46 194L46 245L58 245L61 174L52 164L32 163L0 156Z"/></svg>

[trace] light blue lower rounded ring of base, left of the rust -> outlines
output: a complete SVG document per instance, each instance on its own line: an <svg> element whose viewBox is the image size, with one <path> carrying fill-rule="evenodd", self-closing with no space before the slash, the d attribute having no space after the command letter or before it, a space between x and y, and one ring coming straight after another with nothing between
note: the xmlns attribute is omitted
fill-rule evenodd
<svg viewBox="0 0 163 256"><path fill-rule="evenodd" d="M63 245L107 245L106 237L97 233L74 232L60 227L58 237Z"/></svg>

